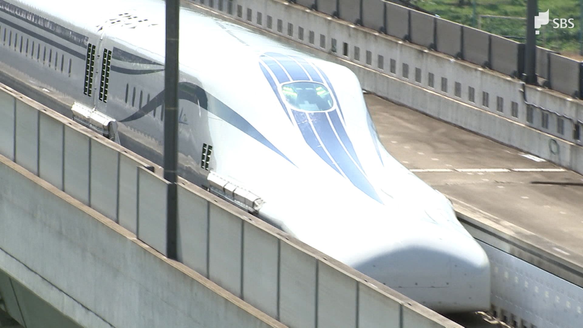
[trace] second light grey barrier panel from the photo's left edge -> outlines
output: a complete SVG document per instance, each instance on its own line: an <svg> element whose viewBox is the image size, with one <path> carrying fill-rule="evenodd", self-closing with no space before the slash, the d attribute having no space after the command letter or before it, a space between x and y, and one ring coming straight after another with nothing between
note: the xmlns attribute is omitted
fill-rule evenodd
<svg viewBox="0 0 583 328"><path fill-rule="evenodd" d="M38 174L38 111L16 99L16 160Z"/></svg>

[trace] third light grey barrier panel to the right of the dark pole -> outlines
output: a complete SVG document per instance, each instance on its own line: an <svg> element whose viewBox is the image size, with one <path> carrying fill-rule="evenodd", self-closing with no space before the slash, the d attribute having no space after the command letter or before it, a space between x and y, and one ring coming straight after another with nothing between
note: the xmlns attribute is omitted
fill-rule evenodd
<svg viewBox="0 0 583 328"><path fill-rule="evenodd" d="M243 229L243 299L277 317L279 240L247 222Z"/></svg>

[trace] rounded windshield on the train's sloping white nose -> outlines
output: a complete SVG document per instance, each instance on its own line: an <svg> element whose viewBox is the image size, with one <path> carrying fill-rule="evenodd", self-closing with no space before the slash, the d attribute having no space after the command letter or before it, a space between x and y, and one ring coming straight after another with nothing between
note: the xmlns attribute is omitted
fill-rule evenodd
<svg viewBox="0 0 583 328"><path fill-rule="evenodd" d="M332 108L328 88L315 82L291 82L282 86L287 103L300 110L324 111Z"/></svg>

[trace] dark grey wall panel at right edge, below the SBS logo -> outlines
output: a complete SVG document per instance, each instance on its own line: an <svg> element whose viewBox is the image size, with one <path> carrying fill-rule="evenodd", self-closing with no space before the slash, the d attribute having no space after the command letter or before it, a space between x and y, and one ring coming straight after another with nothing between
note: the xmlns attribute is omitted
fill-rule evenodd
<svg viewBox="0 0 583 328"><path fill-rule="evenodd" d="M566 93L569 96L579 97L579 69L581 63L557 54L550 54L549 57L550 88Z"/></svg>

